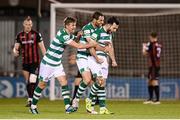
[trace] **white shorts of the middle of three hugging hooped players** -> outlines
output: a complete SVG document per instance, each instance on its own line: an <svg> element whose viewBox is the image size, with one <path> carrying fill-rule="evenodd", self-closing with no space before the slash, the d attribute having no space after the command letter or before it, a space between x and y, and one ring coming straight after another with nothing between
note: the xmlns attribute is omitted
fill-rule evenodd
<svg viewBox="0 0 180 120"><path fill-rule="evenodd" d="M79 58L76 60L79 72L82 74L84 71L90 71L88 65L88 59Z"/></svg>

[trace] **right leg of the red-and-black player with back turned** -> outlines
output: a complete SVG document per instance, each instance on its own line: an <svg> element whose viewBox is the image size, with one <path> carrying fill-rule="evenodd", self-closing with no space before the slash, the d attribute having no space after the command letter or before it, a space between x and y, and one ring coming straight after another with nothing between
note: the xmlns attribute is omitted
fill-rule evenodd
<svg viewBox="0 0 180 120"><path fill-rule="evenodd" d="M160 104L160 101L159 101L159 70L160 70L160 67L155 67L154 68L154 77L153 77L153 81L152 81L152 84L153 84L153 90L154 90L154 93L155 93L155 96L156 96L156 100L153 102L153 104Z"/></svg>

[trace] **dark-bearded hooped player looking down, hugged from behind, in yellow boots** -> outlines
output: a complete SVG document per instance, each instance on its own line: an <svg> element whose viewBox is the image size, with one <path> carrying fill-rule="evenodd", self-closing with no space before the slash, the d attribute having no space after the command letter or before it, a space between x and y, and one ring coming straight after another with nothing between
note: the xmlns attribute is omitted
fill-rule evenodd
<svg viewBox="0 0 180 120"><path fill-rule="evenodd" d="M92 86L89 98L86 99L86 109L88 111L92 110L92 100L94 96L97 94L99 99L99 106L100 106L100 114L112 114L107 108L105 104L106 100L106 92L105 92L105 81L108 77L108 67L109 62L108 59L112 60L112 66L116 67L117 62L115 60L114 55L114 47L112 43L112 33L116 32L119 27L119 21L115 17L111 17L108 19L107 23L97 29L91 36L91 38L99 43L100 46L105 47L109 46L109 54L104 51L96 50L96 54L98 58L101 58L103 62L101 64L97 64L95 58L93 56L89 56L89 63L91 66L92 71L101 71L103 79L97 79ZM95 70L96 69L96 70Z"/></svg>

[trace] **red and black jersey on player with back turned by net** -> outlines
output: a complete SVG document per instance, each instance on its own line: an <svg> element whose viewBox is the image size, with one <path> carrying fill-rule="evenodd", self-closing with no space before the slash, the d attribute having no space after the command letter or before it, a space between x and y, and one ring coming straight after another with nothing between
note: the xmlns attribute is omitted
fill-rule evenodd
<svg viewBox="0 0 180 120"><path fill-rule="evenodd" d="M156 41L148 42L146 47L149 67L160 67L162 45Z"/></svg>

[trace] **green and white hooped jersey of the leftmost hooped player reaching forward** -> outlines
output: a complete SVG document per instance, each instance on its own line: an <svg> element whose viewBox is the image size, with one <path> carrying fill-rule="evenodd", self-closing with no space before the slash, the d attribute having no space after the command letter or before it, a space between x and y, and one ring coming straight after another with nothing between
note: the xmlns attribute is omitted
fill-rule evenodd
<svg viewBox="0 0 180 120"><path fill-rule="evenodd" d="M52 40L41 62L50 66L59 66L65 46L73 41L74 38L74 35L68 34L64 28L60 29L56 37Z"/></svg>

